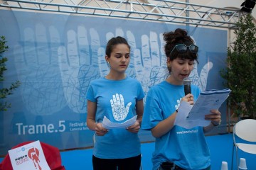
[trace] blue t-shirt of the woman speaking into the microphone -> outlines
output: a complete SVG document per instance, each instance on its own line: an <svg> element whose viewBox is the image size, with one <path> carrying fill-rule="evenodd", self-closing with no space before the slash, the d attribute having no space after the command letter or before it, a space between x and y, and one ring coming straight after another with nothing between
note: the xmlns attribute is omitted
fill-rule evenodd
<svg viewBox="0 0 256 170"><path fill-rule="evenodd" d="M200 94L197 86L191 85L191 94L196 101ZM146 96L142 129L151 130L173 114L183 96L183 85L172 85L163 81L152 86ZM174 125L165 135L156 138L152 162L154 170L158 169L162 162L174 162L183 169L206 169L210 166L210 152L203 127L186 129Z"/></svg>

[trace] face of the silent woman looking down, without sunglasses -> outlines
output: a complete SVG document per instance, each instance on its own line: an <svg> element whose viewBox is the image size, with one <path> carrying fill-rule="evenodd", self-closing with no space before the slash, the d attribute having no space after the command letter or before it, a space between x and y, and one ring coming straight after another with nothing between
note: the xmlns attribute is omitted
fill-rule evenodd
<svg viewBox="0 0 256 170"><path fill-rule="evenodd" d="M124 73L129 65L130 50L126 44L118 44L112 49L110 57L106 57L110 62L110 69L114 72Z"/></svg>

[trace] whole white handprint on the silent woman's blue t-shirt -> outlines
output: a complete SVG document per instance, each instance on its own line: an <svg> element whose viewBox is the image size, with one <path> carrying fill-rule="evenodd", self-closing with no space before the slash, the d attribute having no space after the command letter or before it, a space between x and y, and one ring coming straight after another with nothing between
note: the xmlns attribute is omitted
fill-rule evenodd
<svg viewBox="0 0 256 170"><path fill-rule="evenodd" d="M129 106L132 105L132 102L129 102L126 107L124 107L124 97L122 94L114 94L113 99L110 100L112 113L114 120L120 121L124 120L129 113Z"/></svg>

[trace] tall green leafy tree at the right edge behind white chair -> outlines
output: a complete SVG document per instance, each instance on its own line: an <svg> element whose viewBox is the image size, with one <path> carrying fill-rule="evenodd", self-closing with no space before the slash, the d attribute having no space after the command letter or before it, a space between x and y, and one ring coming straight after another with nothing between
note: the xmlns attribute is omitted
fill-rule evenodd
<svg viewBox="0 0 256 170"><path fill-rule="evenodd" d="M256 27L250 13L237 23L236 40L228 48L227 68L220 72L232 90L228 106L238 116L255 119L256 113Z"/></svg>

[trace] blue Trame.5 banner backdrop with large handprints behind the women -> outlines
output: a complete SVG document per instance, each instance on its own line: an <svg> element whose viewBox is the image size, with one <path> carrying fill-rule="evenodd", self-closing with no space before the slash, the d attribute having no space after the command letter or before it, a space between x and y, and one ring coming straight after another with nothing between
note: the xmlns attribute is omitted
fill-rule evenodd
<svg viewBox="0 0 256 170"><path fill-rule="evenodd" d="M142 82L145 93L166 78L162 33L176 28L188 30L199 46L193 84L201 90L223 88L219 70L225 67L227 30L6 10L0 11L0 23L0 35L9 46L1 86L21 81L6 98L11 108L0 114L0 155L30 140L59 149L92 146L85 92L90 80L107 74L105 45L113 36L129 41L127 74ZM222 110L225 113L225 107ZM149 132L140 132L140 137L142 142L154 140Z"/></svg>

